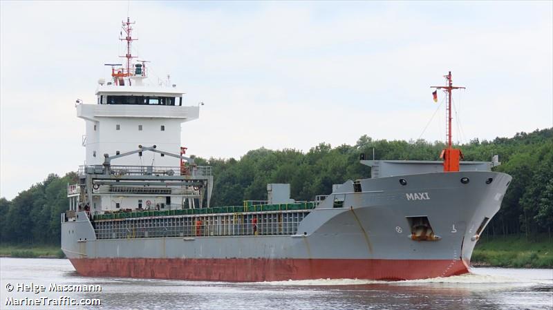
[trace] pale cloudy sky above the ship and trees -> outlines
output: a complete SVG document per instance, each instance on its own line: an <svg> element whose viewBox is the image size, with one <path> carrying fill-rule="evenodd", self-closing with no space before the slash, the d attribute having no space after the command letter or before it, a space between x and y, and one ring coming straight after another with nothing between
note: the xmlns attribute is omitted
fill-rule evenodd
<svg viewBox="0 0 553 310"><path fill-rule="evenodd" d="M553 127L552 1L0 1L0 197L84 162L75 100L120 62L127 15L151 78L205 103L181 135L200 157L443 141L448 71L454 142Z"/></svg>

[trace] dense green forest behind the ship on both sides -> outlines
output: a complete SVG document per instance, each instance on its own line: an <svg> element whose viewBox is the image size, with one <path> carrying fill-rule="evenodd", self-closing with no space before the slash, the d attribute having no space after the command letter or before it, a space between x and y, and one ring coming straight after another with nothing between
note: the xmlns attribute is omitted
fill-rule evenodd
<svg viewBox="0 0 553 310"><path fill-rule="evenodd" d="M517 133L493 141L471 140L457 146L465 160L490 161L499 155L495 169L513 180L498 214L486 235L524 234L527 238L551 235L553 223L553 128ZM327 195L332 184L371 175L371 168L359 164L361 153L375 159L438 160L442 142L374 140L366 135L353 146L332 147L321 143L308 152L294 149L272 151L259 148L240 159L203 159L214 173L212 205L241 205L243 200L266 200L268 183L290 183L292 198L313 200ZM51 174L43 182L21 191L13 200L0 199L0 242L3 244L59 244L60 214L68 209L67 184L77 174Z"/></svg>

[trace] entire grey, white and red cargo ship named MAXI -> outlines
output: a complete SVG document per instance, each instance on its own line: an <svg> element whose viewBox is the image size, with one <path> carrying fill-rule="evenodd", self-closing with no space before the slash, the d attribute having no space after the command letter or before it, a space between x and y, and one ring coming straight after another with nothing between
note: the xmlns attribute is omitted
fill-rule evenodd
<svg viewBox="0 0 553 310"><path fill-rule="evenodd" d="M212 206L214 177L181 146L198 119L169 80L150 83L131 55L100 79L95 104L78 101L86 162L68 184L62 250L97 277L259 282L320 278L411 280L469 272L471 253L512 177L467 162L451 143L451 72L445 75L447 147L441 160L368 160L371 177L344 180L310 202L289 184L268 200ZM191 132L187 124L182 125Z"/></svg>

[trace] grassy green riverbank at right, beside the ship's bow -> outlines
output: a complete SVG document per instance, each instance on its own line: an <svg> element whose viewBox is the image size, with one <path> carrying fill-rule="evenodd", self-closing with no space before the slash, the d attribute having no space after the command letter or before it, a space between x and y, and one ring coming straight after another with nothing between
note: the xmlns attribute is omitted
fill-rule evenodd
<svg viewBox="0 0 553 310"><path fill-rule="evenodd" d="M482 236L474 252L474 266L553 268L553 240L548 235Z"/></svg>

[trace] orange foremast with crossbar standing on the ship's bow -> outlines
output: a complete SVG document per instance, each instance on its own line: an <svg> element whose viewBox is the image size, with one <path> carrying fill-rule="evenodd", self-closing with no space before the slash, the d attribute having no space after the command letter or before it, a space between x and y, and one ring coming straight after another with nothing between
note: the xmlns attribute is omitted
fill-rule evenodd
<svg viewBox="0 0 553 310"><path fill-rule="evenodd" d="M451 71L447 75L444 75L447 85L446 86L430 86L431 88L436 88L444 90L446 94L446 135L447 135L447 147L440 154L440 158L444 159L444 172L459 171L459 161L463 159L461 150L458 148L453 148L451 144L451 90L454 89L465 89L462 86L453 86L453 80L451 79Z"/></svg>

